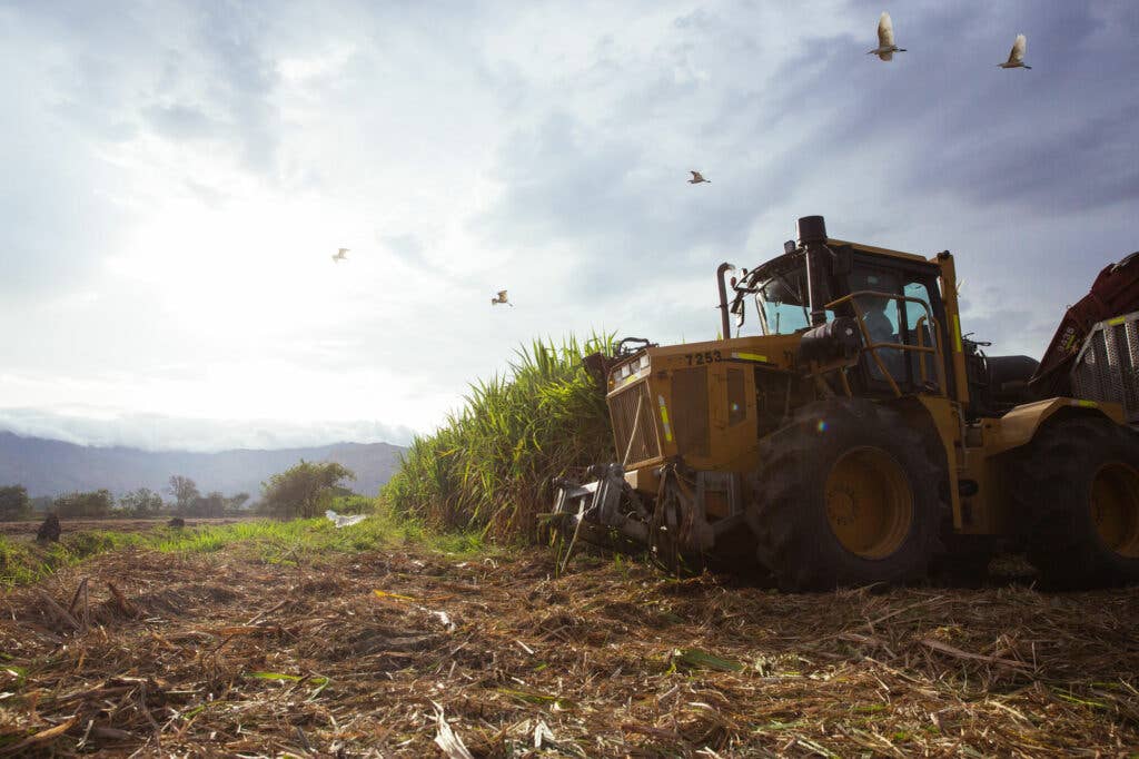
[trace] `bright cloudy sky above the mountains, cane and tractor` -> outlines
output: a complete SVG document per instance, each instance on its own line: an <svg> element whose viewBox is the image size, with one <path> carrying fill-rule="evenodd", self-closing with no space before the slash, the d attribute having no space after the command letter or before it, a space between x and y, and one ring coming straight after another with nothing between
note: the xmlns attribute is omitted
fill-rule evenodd
<svg viewBox="0 0 1139 759"><path fill-rule="evenodd" d="M1137 36L1131 0L0 0L0 429L404 443L532 337L715 337L716 266L808 214L952 251L965 330L1039 357L1139 248Z"/></svg>

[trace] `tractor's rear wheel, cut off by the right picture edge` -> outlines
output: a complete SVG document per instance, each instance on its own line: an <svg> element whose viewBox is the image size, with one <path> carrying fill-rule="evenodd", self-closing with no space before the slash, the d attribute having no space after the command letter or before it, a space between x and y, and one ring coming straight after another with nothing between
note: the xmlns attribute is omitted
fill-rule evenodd
<svg viewBox="0 0 1139 759"><path fill-rule="evenodd" d="M1029 561L1051 588L1139 582L1139 436L1101 417L1048 425L1014 466Z"/></svg>

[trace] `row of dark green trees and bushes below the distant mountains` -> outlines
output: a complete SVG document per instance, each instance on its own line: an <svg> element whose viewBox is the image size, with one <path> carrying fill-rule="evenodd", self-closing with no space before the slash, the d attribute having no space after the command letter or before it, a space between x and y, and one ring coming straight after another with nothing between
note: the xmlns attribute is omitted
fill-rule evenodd
<svg viewBox="0 0 1139 759"><path fill-rule="evenodd" d="M355 496L341 483L355 474L331 462L305 462L274 474L261 483L255 513L278 519L309 519L336 506L341 512L370 509L371 500ZM56 498L28 498L23 485L0 487L0 521L26 520L51 512L59 519L148 517L158 515L218 517L248 514L249 493L224 496L219 490L205 495L190 478L174 474L165 488L172 500L149 488L138 488L117 499L109 490L68 492ZM34 507L34 508L33 508Z"/></svg>

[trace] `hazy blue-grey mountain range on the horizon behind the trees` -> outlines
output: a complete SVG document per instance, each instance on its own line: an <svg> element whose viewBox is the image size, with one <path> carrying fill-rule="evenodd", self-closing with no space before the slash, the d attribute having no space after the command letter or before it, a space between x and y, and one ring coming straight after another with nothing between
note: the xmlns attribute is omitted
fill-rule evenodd
<svg viewBox="0 0 1139 759"><path fill-rule="evenodd" d="M390 443L334 443L319 448L224 450L215 454L148 451L138 448L95 448L59 440L23 438L0 431L0 485L22 484L33 498L75 490L106 488L120 496L150 488L164 489L173 474L194 480L205 495L247 492L256 500L261 483L298 463L336 462L355 472L353 491L375 496L400 466L407 450Z"/></svg>

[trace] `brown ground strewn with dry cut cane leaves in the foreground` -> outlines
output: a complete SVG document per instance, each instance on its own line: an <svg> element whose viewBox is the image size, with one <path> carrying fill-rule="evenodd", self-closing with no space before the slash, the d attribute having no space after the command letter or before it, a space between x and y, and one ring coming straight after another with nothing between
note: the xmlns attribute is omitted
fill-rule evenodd
<svg viewBox="0 0 1139 759"><path fill-rule="evenodd" d="M551 570L536 550L91 560L0 598L0 754L444 756L440 713L476 757L1139 752L1136 589Z"/></svg>

